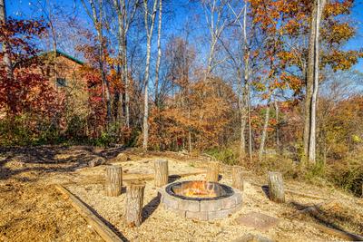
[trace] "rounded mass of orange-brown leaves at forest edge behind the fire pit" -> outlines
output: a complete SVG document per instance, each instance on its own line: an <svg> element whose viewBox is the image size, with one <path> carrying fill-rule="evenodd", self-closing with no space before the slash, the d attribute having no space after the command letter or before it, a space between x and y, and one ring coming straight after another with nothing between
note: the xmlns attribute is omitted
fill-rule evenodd
<svg viewBox="0 0 363 242"><path fill-rule="evenodd" d="M186 147L190 133L194 148L220 144L234 100L231 88L220 79L192 83L189 92L181 91L162 110L152 109L150 145L160 150Z"/></svg>

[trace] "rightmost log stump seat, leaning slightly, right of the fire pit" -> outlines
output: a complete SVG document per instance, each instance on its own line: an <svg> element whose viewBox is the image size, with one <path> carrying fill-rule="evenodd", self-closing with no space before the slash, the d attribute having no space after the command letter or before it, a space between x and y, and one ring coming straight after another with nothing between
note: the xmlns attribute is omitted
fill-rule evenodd
<svg viewBox="0 0 363 242"><path fill-rule="evenodd" d="M280 172L269 172L269 197L274 202L285 202L285 190Z"/></svg>

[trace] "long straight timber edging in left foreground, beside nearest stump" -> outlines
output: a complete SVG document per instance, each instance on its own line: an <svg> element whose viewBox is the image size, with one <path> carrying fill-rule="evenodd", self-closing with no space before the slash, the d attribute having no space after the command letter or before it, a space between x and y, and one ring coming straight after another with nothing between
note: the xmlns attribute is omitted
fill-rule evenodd
<svg viewBox="0 0 363 242"><path fill-rule="evenodd" d="M83 202L76 198L69 190L65 189L62 185L55 184L55 189L57 189L64 197L69 200L71 205L81 214L84 220L91 225L97 234L103 238L106 242L122 242L123 240L118 237L110 227L107 227L103 221L95 216L93 212L87 208Z"/></svg>

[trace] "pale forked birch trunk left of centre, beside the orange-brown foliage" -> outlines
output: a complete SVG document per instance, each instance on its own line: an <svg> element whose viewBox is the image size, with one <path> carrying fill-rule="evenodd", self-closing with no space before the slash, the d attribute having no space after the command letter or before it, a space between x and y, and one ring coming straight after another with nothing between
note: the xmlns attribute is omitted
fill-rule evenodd
<svg viewBox="0 0 363 242"><path fill-rule="evenodd" d="M148 1L147 0L143 0L143 6L144 6L144 10L145 10L145 15L144 15L144 24L145 24L145 29L146 29L146 37L147 37L147 43L146 43L146 64L145 64L145 76L144 76L144 105L143 105L143 140L142 140L142 149L143 150L147 150L148 148L148 140L149 140L149 123L148 123L148 119L149 119L149 69L150 69L150 54L151 54L151 49L152 49L152 32L153 32L153 27L155 24L155 15L156 15L156 5L157 5L157 0L154 0L153 2L153 6L152 6L152 13L149 13L149 8L148 8ZM151 25L149 28L149 15L151 15Z"/></svg>

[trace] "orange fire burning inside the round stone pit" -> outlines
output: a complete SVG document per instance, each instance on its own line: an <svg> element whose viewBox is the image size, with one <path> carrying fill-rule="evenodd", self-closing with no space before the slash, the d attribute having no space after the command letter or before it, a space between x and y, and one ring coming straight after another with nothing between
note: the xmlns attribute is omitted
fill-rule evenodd
<svg viewBox="0 0 363 242"><path fill-rule="evenodd" d="M194 181L182 188L182 195L190 198L214 198L217 197L214 191L214 184L203 181Z"/></svg>

